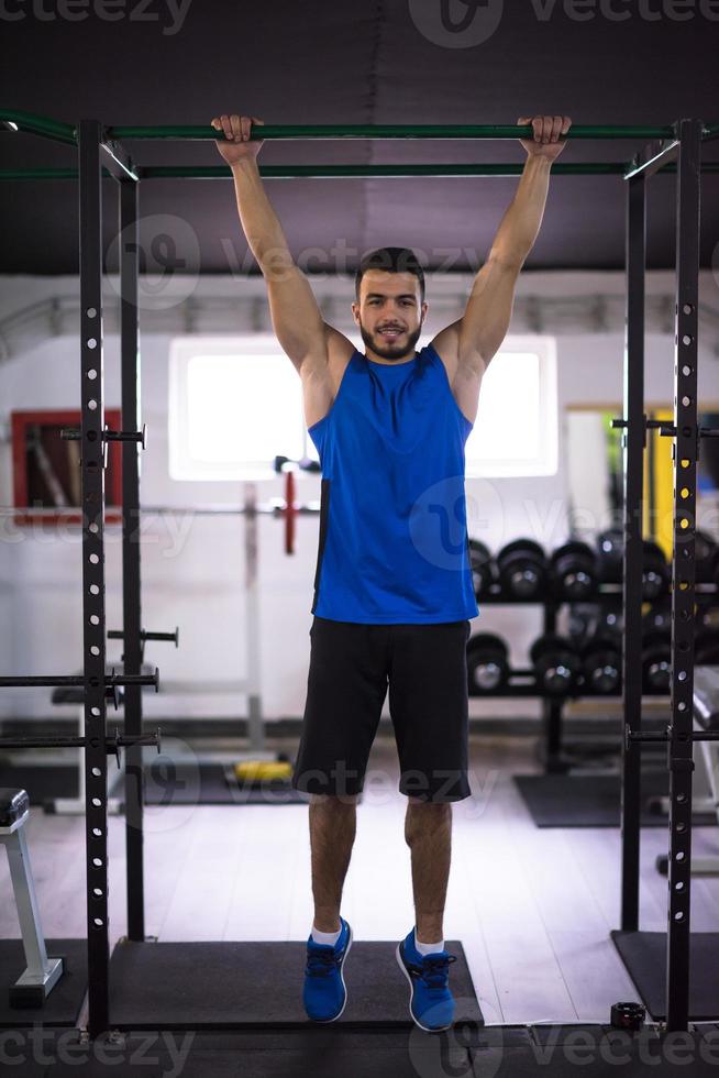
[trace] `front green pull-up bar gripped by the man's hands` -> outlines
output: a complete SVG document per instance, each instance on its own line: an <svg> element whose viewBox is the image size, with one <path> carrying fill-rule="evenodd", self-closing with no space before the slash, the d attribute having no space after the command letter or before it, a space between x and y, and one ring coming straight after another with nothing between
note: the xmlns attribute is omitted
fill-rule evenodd
<svg viewBox="0 0 719 1078"><path fill-rule="evenodd" d="M201 127L108 128L111 139L220 139L224 135L211 124ZM673 127L572 127L567 139L671 139ZM533 128L526 124L265 124L251 128L258 139L531 139Z"/></svg>

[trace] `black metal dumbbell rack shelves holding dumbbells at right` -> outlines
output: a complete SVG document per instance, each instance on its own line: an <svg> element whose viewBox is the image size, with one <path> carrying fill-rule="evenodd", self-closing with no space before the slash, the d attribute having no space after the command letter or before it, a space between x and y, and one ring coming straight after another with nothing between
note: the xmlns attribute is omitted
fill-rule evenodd
<svg viewBox="0 0 719 1078"><path fill-rule="evenodd" d="M696 584L696 601L699 606L709 607L719 605L719 587L716 584ZM621 605L622 585L617 583L600 583L594 595L583 600L557 598L553 595L544 595L541 598L526 600L507 595L501 584L491 584L487 592L477 597L479 607L483 606L542 606L544 608L543 634L556 631L557 612L562 606L601 604L613 600ZM650 605L664 605L671 598L671 592L664 592ZM502 689L494 692L482 692L473 695L473 700L496 697L539 697L542 701L542 740L540 743L540 758L547 773L563 773L576 767L577 760L573 759L563 751L563 711L567 701L576 701L580 697L590 696L595 700L621 700L620 693L599 693L589 688L583 688L583 675L577 679L577 686L573 692L557 696L542 690L537 683L537 675L531 668L515 669L509 671L507 683ZM668 693L643 692L643 695L653 698L668 700Z"/></svg>

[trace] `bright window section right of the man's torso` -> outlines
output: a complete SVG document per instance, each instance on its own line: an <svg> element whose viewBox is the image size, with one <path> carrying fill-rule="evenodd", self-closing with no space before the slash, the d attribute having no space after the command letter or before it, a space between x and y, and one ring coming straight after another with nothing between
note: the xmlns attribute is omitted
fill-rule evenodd
<svg viewBox="0 0 719 1078"><path fill-rule="evenodd" d="M482 380L466 477L555 475L557 435L554 338L507 337Z"/></svg>

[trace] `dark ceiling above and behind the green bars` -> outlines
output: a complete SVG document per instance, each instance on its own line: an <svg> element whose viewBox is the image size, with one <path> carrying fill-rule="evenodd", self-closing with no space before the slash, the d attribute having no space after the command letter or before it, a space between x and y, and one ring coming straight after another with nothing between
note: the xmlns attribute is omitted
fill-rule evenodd
<svg viewBox="0 0 719 1078"><path fill-rule="evenodd" d="M467 29L444 29L442 8ZM267 123L515 123L540 112L582 124L719 121L717 0L9 0L2 11L0 99L68 122L196 124L222 111ZM627 161L642 144L576 140L561 161ZM128 148L141 164L221 163L211 142L136 141ZM75 164L71 147L10 132L0 134L0 158L2 168ZM517 142L478 141L267 142L259 157L523 158ZM706 158L719 160L719 141L706 145ZM412 246L428 268L477 268L517 179L266 183L300 264L351 272L358 254L384 244ZM107 252L114 182L103 189ZM75 183L5 183L0 191L0 272L76 273ZM705 176L704 266L716 265L718 193L719 175ZM673 265L674 197L673 177L652 178L651 267ZM147 179L140 205L143 217L173 215L179 221L170 231L197 235L202 272L256 268L229 182ZM553 176L527 266L620 268L623 220L621 177Z"/></svg>

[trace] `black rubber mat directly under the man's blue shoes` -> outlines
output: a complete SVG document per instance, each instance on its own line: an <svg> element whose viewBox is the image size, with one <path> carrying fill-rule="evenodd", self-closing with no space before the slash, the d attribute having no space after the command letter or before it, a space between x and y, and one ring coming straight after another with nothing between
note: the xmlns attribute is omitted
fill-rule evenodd
<svg viewBox="0 0 719 1078"><path fill-rule="evenodd" d="M484 1020L462 944L450 972L457 1012ZM395 957L395 942L352 944L344 965L347 1005L333 1026L407 1028L409 985ZM110 1013L126 1030L307 1028L302 1007L305 941L136 943L120 941L110 958Z"/></svg>

